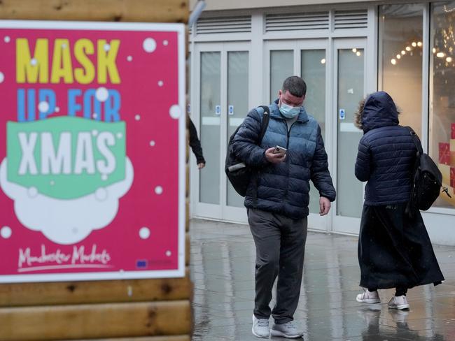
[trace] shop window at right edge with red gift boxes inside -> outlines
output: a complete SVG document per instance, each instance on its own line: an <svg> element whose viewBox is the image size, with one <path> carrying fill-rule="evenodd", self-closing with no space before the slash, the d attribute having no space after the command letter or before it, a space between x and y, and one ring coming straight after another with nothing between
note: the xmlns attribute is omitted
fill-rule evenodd
<svg viewBox="0 0 455 341"><path fill-rule="evenodd" d="M429 151L452 198L433 207L455 207L455 1L435 3L431 18Z"/></svg>

